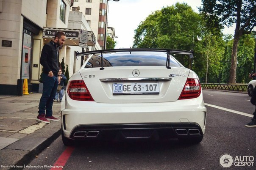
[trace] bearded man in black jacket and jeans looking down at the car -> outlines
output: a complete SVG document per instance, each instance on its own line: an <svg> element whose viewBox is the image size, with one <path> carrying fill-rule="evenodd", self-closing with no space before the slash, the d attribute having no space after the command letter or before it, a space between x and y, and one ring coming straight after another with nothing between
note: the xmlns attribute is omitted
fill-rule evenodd
<svg viewBox="0 0 256 170"><path fill-rule="evenodd" d="M43 66L43 93L39 102L37 121L50 123L59 121L53 117L53 99L56 95L57 86L61 82L58 76L59 47L62 47L66 40L63 32L57 32L54 40L45 44L42 49L40 64Z"/></svg>

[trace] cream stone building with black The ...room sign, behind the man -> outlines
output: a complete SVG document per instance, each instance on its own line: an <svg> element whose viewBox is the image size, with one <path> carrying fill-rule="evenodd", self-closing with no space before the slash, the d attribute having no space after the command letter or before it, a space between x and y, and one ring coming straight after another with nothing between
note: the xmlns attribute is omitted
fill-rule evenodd
<svg viewBox="0 0 256 170"><path fill-rule="evenodd" d="M73 0L0 0L0 94L22 95L25 79L29 92L38 91L42 47L57 31L67 36L59 62L64 59L70 76L83 63L75 56L82 51L80 30L89 35L85 50L100 49L85 16L72 6Z"/></svg>

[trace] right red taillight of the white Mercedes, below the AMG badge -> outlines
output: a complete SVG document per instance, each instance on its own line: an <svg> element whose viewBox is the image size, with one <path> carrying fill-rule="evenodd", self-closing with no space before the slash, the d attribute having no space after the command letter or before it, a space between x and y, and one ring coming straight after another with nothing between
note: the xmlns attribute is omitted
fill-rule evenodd
<svg viewBox="0 0 256 170"><path fill-rule="evenodd" d="M201 85L199 80L188 78L181 92L181 96L179 97L179 100L197 98L198 96L200 96L200 93L201 93Z"/></svg>

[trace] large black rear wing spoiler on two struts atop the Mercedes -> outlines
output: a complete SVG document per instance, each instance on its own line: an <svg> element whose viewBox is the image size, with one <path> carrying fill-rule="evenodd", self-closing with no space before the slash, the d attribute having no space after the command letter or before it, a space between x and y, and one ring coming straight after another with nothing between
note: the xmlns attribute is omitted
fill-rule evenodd
<svg viewBox="0 0 256 170"><path fill-rule="evenodd" d="M189 55L189 58L193 58L194 51L186 51L186 50L179 50L179 49L157 49L157 48L123 48L123 49L101 49L95 51L87 51L87 52L76 52L76 56L83 56L83 55L91 55L91 54L101 54L101 60L103 60L103 53L110 53L110 52L138 52L138 51L152 51L152 52L166 52L166 67L170 69L170 54L183 54ZM103 62L101 62L103 63ZM101 66L103 70L103 65Z"/></svg>

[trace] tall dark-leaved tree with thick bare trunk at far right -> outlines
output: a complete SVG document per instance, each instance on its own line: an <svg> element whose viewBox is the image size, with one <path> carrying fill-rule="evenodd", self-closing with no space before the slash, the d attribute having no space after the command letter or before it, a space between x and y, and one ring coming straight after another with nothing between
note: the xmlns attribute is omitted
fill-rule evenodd
<svg viewBox="0 0 256 170"><path fill-rule="evenodd" d="M236 24L231 52L229 83L236 83L237 47L245 33L251 33L256 26L255 0L202 0L200 12L206 18L208 27L223 28Z"/></svg>

